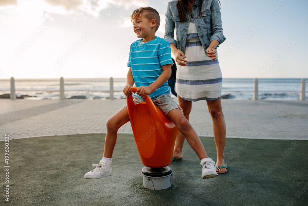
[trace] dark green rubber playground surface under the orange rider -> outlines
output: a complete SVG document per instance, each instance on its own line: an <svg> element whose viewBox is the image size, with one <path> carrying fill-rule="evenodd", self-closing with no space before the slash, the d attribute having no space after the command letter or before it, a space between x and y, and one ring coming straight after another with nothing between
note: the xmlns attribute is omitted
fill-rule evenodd
<svg viewBox="0 0 308 206"><path fill-rule="evenodd" d="M103 156L105 134L10 140L9 183L0 173L0 205L307 205L308 141L227 138L228 172L201 179L199 158L187 142L183 159L169 165L172 186L143 187L131 134L119 134L112 176L85 179ZM216 161L212 137L200 137ZM0 153L4 154L4 141ZM4 162L4 155L2 156ZM9 202L5 200L9 184Z"/></svg>

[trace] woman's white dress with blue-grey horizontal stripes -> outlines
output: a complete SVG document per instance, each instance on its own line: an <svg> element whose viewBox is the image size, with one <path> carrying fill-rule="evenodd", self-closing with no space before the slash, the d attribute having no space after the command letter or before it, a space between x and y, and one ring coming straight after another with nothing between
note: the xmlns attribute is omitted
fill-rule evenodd
<svg viewBox="0 0 308 206"><path fill-rule="evenodd" d="M193 19L187 32L186 66L177 66L176 92L185 100L216 100L221 96L222 74L218 60L212 61L204 51Z"/></svg>

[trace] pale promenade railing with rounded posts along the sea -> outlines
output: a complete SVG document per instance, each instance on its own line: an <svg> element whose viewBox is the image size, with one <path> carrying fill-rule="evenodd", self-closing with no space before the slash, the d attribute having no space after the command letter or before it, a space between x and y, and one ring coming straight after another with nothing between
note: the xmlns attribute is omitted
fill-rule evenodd
<svg viewBox="0 0 308 206"><path fill-rule="evenodd" d="M10 80L6 79L7 81L10 81L10 99L16 99L16 94L15 94L15 80L14 80L14 77L11 77ZM55 79L43 79L44 81L55 81ZM34 79L20 79L18 80L19 81L25 81L25 82L29 82L29 81L37 81L37 80L34 80ZM42 81L42 79L40 79L40 81ZM76 81L74 79L67 79L66 81ZM97 79L94 79L94 78L88 78L88 79L83 79L83 80L80 80L78 79L78 81L85 81L85 82L97 82L98 80ZM99 81L101 82L109 82L110 83L110 86L109 86L109 91L108 90L91 90L91 92L109 92L110 94L110 97L109 99L110 100L113 100L114 99L114 96L113 96L113 93L115 92L114 91L114 82L124 82L123 79L122 80L119 80L119 79L113 79L112 77L110 78L102 78L100 79ZM224 82L230 82L230 81L224 81ZM241 81L232 81L233 83L237 83L237 82L241 82ZM59 91L60 93L60 99L63 100L65 99L65 95L64 95L64 78L61 77L60 78L60 90L52 90L52 92L56 92L56 91ZM245 83L247 83L247 81L245 81ZM269 82L267 82L269 83ZM286 82L277 82L275 81L275 83L286 83ZM288 83L298 83L298 82L288 82ZM259 91L258 90L258 79L255 78L253 80L253 91L245 91L245 92L253 92L253 100L258 100L258 93L259 92L263 92L263 91ZM4 90L0 90L0 91L4 91ZM22 90L22 91L30 91L30 90ZM31 90L32 91L32 90ZM36 91L46 91L46 90L36 90ZM48 90L49 92L51 92L51 90ZM71 90L70 90L71 91ZM85 91L85 90L74 90L74 91ZM224 91L224 90L223 90ZM116 91L116 92L119 92L119 91ZM224 91L226 92L226 91ZM236 92L236 91L228 91L228 92ZM267 91L268 92L268 91ZM275 91L276 92L276 91ZM277 91L277 92L290 92L290 91ZM300 92L299 92L299 100L305 100L306 99L306 79L301 79L301 82L300 82Z"/></svg>

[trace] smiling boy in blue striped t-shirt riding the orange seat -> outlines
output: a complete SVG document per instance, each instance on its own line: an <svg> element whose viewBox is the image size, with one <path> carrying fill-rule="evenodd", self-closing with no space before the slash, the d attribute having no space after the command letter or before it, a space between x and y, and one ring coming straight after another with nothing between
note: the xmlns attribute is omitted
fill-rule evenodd
<svg viewBox="0 0 308 206"><path fill-rule="evenodd" d="M187 139L189 145L201 160L203 179L216 177L215 162L208 158L205 149L191 124L184 117L176 102L170 97L167 84L171 75L171 49L168 41L155 36L160 24L158 12L151 7L141 7L132 13L134 32L138 38L130 46L128 60L128 74L123 93L133 95L131 87L136 84L139 88L134 96L135 103L144 101L149 95L154 102L178 128ZM129 121L127 106L122 107L117 113L107 120L103 159L96 168L84 175L85 178L99 179L107 177L111 172L111 156L116 142L117 131Z"/></svg>

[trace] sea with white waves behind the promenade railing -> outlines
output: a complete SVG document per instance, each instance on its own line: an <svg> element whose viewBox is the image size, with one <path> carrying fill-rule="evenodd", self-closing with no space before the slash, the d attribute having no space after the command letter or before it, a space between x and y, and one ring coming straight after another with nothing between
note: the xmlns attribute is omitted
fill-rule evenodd
<svg viewBox="0 0 308 206"><path fill-rule="evenodd" d="M224 78L222 99L252 99L253 78ZM113 79L115 99L124 99L122 90L125 78ZM299 99L301 79L258 78L258 99L297 100ZM307 88L307 79L306 79ZM15 79L17 96L28 95L24 99L60 99L60 79ZM109 78L64 79L65 98L108 99L110 97ZM306 99L308 99L306 89ZM10 79L0 79L0 95L10 93ZM176 98L172 95L173 98Z"/></svg>

